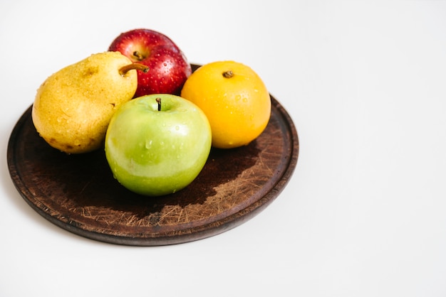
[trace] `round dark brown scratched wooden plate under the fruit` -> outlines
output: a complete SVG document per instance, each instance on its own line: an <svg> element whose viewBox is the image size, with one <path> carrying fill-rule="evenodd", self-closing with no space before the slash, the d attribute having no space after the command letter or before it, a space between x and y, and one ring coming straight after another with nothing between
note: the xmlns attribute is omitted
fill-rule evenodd
<svg viewBox="0 0 446 297"><path fill-rule="evenodd" d="M271 96L271 119L249 146L212 149L199 176L178 193L147 198L114 178L103 150L67 155L46 144L31 107L9 139L9 173L40 215L75 234L113 244L156 246L203 239L241 225L269 205L296 167L291 117Z"/></svg>

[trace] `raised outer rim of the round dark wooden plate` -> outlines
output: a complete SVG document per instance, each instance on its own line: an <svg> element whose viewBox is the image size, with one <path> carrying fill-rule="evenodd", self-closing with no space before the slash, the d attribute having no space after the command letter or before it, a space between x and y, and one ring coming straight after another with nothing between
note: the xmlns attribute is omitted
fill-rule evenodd
<svg viewBox="0 0 446 297"><path fill-rule="evenodd" d="M262 195L261 198L254 201L253 203L243 207L241 210L234 212L232 215L227 215L219 218L213 222L207 222L204 225L199 225L195 227L189 227L181 230L181 234L175 234L175 230L160 232L159 234L152 233L153 236L150 237L134 237L129 234L129 236L117 236L113 234L105 234L95 231L90 231L79 226L78 222L63 222L60 218L51 215L34 204L24 193L23 188L19 188L19 185L24 185L28 195L32 195L24 180L18 173L18 168L14 163L14 148L16 146L15 139L16 136L20 134L21 129L24 129L26 121L31 117L32 104L26 111L21 115L19 120L16 122L14 129L11 131L7 146L7 163L9 168L9 173L11 180L14 183L16 190L18 190L21 197L30 205L33 210L38 212L39 215L44 217L46 220L52 222L54 225L66 229L69 232L78 234L82 237L89 239L94 239L100 242L108 242L111 244L123 244L132 246L161 246L169 244L181 244L185 242L192 242L199 239L204 239L207 237L212 237L217 234L233 229L239 225L242 225L247 220L255 217L259 212L264 210L268 205L271 204L285 188L286 184L289 182L291 175L293 175L296 168L297 160L299 157L299 136L297 134L296 126L294 121L291 119L286 109L276 100L271 94L271 107L273 107L279 114L281 120L286 124L286 131L289 132L289 143L291 145L291 151L289 153L289 158L286 161L286 170L277 178L276 183L271 185L271 188ZM187 230L187 232L185 232ZM155 234L155 235L154 235Z"/></svg>

